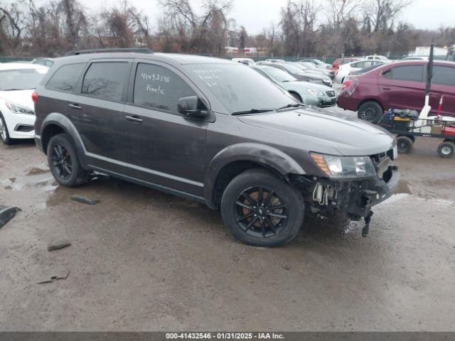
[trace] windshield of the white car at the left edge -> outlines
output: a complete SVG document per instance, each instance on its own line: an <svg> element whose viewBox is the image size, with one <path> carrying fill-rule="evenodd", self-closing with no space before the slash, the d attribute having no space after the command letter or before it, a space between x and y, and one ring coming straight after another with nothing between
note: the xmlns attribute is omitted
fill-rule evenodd
<svg viewBox="0 0 455 341"><path fill-rule="evenodd" d="M48 72L46 69L18 69L0 71L0 90L35 89Z"/></svg>

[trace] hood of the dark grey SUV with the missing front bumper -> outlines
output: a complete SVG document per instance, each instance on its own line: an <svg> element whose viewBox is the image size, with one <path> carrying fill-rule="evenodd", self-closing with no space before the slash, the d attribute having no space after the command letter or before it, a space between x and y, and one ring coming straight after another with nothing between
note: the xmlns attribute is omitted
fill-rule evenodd
<svg viewBox="0 0 455 341"><path fill-rule="evenodd" d="M395 146L394 137L385 129L356 117L316 108L287 112L267 112L239 116L245 124L291 134L302 139L302 148L315 151L316 145L335 148L343 156L369 156Z"/></svg>

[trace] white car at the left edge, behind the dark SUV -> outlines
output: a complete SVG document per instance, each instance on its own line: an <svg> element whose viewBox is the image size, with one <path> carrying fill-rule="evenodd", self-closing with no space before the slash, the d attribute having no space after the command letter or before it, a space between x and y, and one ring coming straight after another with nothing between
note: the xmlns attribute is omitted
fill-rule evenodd
<svg viewBox="0 0 455 341"><path fill-rule="evenodd" d="M0 64L0 138L4 144L35 136L31 94L48 70L37 64Z"/></svg>

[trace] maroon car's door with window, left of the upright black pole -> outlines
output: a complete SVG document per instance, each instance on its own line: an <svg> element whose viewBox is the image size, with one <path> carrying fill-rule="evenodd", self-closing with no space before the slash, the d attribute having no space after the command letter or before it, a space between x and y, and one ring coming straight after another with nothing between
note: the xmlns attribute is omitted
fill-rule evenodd
<svg viewBox="0 0 455 341"><path fill-rule="evenodd" d="M382 102L387 109L415 109L424 106L424 65L395 66L378 74Z"/></svg>

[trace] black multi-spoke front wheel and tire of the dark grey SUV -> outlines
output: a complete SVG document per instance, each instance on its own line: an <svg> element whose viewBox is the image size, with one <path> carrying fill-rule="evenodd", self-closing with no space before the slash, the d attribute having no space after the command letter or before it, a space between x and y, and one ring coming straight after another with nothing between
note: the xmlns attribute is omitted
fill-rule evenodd
<svg viewBox="0 0 455 341"><path fill-rule="evenodd" d="M225 189L221 215L240 241L256 247L279 247L299 234L304 222L301 193L261 169L237 175Z"/></svg>

